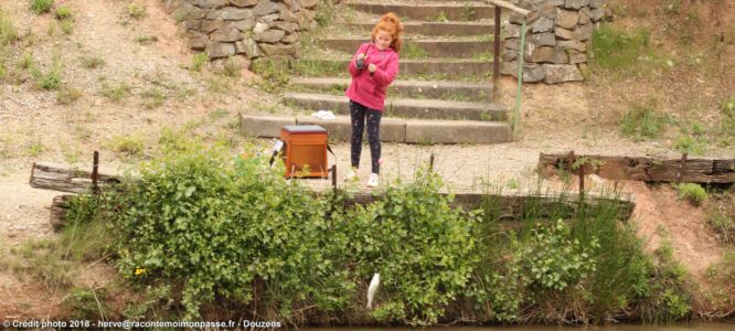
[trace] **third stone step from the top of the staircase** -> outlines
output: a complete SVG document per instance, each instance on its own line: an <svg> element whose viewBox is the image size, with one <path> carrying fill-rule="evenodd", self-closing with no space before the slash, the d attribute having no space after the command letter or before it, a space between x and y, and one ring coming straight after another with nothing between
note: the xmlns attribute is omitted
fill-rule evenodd
<svg viewBox="0 0 735 331"><path fill-rule="evenodd" d="M361 44L370 42L369 38L361 36L341 36L327 38L320 40L320 43L328 49L340 52L353 53ZM471 57L482 55L484 57L492 55L492 41L487 40L411 40L407 39L403 44L403 56L411 57Z"/></svg>

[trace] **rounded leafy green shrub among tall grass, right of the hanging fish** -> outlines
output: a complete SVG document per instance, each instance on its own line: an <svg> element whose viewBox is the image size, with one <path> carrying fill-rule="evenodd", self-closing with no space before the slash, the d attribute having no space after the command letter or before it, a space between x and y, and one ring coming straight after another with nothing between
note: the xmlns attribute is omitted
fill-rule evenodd
<svg viewBox="0 0 735 331"><path fill-rule="evenodd" d="M582 247L571 241L569 226L558 220L548 228L534 228L532 238L521 248L526 275L531 284L542 289L564 290L574 286L596 270L596 260L589 252L599 248L597 238Z"/></svg>

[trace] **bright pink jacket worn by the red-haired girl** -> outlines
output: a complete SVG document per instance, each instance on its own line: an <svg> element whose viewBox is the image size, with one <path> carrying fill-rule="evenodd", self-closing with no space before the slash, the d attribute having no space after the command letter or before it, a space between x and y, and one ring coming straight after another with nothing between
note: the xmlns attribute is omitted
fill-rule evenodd
<svg viewBox="0 0 735 331"><path fill-rule="evenodd" d="M362 70L355 66L360 53L366 55ZM368 65L371 63L377 66L373 74L368 71ZM385 89L398 74L398 54L391 47L381 51L373 43L364 43L350 61L350 74L352 83L344 95L358 104L382 111L385 105Z"/></svg>

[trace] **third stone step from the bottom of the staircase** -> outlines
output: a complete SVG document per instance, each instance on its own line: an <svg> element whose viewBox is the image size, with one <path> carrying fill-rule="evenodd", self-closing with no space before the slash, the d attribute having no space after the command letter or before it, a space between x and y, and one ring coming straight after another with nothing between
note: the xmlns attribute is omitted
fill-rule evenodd
<svg viewBox="0 0 735 331"><path fill-rule="evenodd" d="M350 78L295 77L291 78L290 85L296 90L301 92L339 93L342 95L350 85ZM388 87L387 94L390 96L411 98L491 102L492 83L396 79Z"/></svg>

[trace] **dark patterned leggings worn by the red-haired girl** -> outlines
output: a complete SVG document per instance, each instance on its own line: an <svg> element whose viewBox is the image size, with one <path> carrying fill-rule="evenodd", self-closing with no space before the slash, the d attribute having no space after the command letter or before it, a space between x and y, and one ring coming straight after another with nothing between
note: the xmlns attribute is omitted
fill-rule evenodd
<svg viewBox="0 0 735 331"><path fill-rule="evenodd" d="M350 140L350 157L352 167L360 166L360 153L362 152L362 131L368 118L368 142L370 142L370 157L373 173L381 173L381 117L383 111L368 108L361 104L350 100L350 116L352 117L352 139Z"/></svg>

